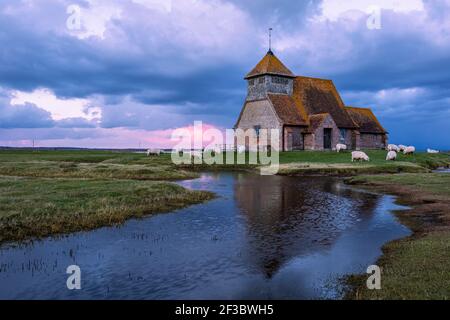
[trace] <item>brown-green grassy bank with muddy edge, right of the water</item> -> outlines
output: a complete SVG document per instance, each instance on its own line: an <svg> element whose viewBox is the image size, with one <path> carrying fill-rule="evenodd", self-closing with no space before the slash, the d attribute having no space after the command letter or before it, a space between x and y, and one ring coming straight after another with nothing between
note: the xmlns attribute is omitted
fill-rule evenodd
<svg viewBox="0 0 450 320"><path fill-rule="evenodd" d="M397 215L415 231L383 248L382 290L370 291L366 275L354 276L349 298L450 299L450 174L359 176L349 183L398 195L412 209Z"/></svg>

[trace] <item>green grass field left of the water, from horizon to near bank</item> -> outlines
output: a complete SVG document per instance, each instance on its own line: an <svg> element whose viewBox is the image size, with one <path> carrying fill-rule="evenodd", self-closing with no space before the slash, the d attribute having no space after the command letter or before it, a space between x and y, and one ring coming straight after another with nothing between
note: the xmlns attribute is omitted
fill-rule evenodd
<svg viewBox="0 0 450 320"><path fill-rule="evenodd" d="M116 225L211 199L166 182L197 176L168 155L0 151L0 243Z"/></svg>

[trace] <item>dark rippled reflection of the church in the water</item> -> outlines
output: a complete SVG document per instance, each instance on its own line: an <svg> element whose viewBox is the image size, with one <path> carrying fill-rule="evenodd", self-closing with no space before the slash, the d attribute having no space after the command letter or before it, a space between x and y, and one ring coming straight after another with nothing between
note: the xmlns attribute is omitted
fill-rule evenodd
<svg viewBox="0 0 450 320"><path fill-rule="evenodd" d="M332 245L345 228L370 215L379 199L319 177L246 175L234 189L247 220L243 250L269 278L292 258Z"/></svg>

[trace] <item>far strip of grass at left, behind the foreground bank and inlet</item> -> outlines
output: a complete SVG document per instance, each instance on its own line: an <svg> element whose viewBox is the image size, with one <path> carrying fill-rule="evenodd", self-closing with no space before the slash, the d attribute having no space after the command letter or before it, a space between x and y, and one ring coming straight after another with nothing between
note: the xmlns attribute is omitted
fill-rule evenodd
<svg viewBox="0 0 450 320"><path fill-rule="evenodd" d="M172 164L170 155L106 151L0 151L0 175L46 178L183 180L198 174Z"/></svg>

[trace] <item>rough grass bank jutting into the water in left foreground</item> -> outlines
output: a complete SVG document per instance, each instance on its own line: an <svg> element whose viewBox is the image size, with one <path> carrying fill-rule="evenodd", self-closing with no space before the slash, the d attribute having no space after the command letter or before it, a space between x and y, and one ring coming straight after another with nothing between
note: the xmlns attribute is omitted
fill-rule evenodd
<svg viewBox="0 0 450 320"><path fill-rule="evenodd" d="M0 177L0 243L117 225L212 197L166 182Z"/></svg>

